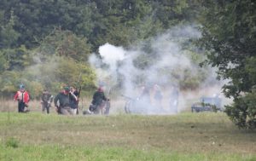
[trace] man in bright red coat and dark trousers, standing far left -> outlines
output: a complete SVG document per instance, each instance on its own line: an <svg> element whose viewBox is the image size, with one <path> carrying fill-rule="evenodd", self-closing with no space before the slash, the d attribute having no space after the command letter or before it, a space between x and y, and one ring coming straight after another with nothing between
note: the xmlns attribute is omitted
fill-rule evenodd
<svg viewBox="0 0 256 161"><path fill-rule="evenodd" d="M14 101L18 101L18 112L26 112L25 106L28 106L29 94L26 91L24 84L20 84L20 90L16 92Z"/></svg>

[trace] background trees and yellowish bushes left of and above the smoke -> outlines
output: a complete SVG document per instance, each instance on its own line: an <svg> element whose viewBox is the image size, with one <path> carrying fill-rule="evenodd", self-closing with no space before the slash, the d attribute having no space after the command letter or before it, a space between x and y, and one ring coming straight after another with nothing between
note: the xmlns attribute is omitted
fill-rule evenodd
<svg viewBox="0 0 256 161"><path fill-rule="evenodd" d="M96 74L88 57L99 46L129 48L171 26L194 23L198 4L192 0L2 0L1 95L13 95L19 83L25 83L34 97L44 88L56 92L63 83L94 90Z"/></svg>

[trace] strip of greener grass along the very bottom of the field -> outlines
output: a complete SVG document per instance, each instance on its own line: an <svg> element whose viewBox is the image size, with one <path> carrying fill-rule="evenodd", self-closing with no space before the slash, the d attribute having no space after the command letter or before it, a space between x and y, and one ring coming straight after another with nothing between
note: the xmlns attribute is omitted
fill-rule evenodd
<svg viewBox="0 0 256 161"><path fill-rule="evenodd" d="M253 160L250 155L145 151L120 147L55 145L0 149L3 152L0 154L1 160Z"/></svg>

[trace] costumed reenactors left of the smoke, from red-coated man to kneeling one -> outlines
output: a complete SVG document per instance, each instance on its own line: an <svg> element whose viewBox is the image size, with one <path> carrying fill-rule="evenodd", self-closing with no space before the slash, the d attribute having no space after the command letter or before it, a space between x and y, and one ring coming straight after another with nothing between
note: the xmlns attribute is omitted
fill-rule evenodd
<svg viewBox="0 0 256 161"><path fill-rule="evenodd" d="M64 86L61 92L55 95L55 97L47 89L44 89L41 95L42 112L46 111L49 113L49 107L53 102L58 114L77 115L79 114L79 95L80 89L78 90L75 87ZM23 84L20 84L20 89L16 92L14 101L18 101L18 112L28 112L26 107L28 107L30 98ZM103 86L100 85L93 95L89 109L83 113L93 114L99 112L106 104L109 104L109 99L104 94ZM109 107L105 109L103 114L108 114Z"/></svg>

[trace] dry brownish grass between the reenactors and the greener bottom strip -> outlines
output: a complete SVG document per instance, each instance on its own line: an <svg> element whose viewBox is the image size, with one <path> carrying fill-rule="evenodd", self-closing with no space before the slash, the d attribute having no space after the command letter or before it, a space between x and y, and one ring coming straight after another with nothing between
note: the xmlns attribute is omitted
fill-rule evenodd
<svg viewBox="0 0 256 161"><path fill-rule="evenodd" d="M176 152L256 153L253 131L236 129L224 113L176 116L65 117L38 112L0 114L3 139L26 144L58 143L137 147Z"/></svg>

